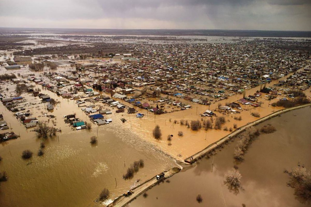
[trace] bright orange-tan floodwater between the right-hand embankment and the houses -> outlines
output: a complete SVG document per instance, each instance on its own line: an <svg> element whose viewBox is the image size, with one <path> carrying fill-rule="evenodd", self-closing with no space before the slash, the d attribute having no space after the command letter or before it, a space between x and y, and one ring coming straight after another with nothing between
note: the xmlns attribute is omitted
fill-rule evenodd
<svg viewBox="0 0 311 207"><path fill-rule="evenodd" d="M62 71L63 74L66 74L66 70L69 70L70 68L62 68L58 71ZM302 70L301 68L300 70ZM5 69L4 69L5 70ZM15 73L20 72L21 74L26 74L27 72L30 73L30 71L27 71L25 69L21 69L18 71L14 71ZM288 74L287 76L282 77L281 79L277 81L272 81L271 83L267 84L267 87L277 83L280 80L286 79L286 77L290 76L291 74ZM39 74L35 74L35 76L39 76ZM46 81L48 83L48 81ZM4 87L5 88L5 87ZM252 95L256 92L256 90L260 90L260 86L249 89L246 91L246 96ZM50 93L54 95L52 92L45 90L47 93ZM43 91L42 93L45 93ZM310 98L311 91L305 90L304 91L308 98ZM110 94L104 94L106 96L110 96ZM284 96L278 96L279 98L283 98ZM180 99L177 97L171 97L171 99L176 99L181 101L182 103L190 104L192 107L188 110L182 110L177 111L174 113L166 113L161 115L154 115L151 112L148 112L145 109L138 108L132 104L129 104L121 99L118 99L119 102L122 104L128 106L128 107L134 107L139 113L144 113L145 116L143 118L136 118L136 113L134 114L127 114L127 113L114 113L115 108L110 108L113 112L112 115L107 115L107 118L112 118L114 122L107 126L100 126L99 128L110 128L114 130L115 127L118 130L123 130L124 132L131 131L135 134L137 134L137 137L142 138L142 140L146 140L148 143L152 145L154 149L159 149L160 151L165 152L165 154L169 154L175 159L179 161L183 161L184 159L190 157L191 155L203 150L208 145L216 142L217 140L221 139L222 137L228 135L229 131L224 130L198 130L198 131L192 131L190 128L187 128L185 125L180 125L179 123L174 124L174 120L180 122L181 119L187 120L188 122L191 122L192 120L201 120L200 113L204 113L205 110L211 109L215 112L215 109L217 108L217 105L220 103L224 105L227 102L233 102L237 101L239 99L243 98L243 94L236 94L233 96L230 96L228 99L224 99L217 102L212 102L210 106L205 106L202 104L195 104L191 101ZM67 101L67 100L66 100ZM262 105L257 108L250 108L248 109L248 106L242 106L243 110L240 114L226 114L226 123L223 125L224 127L233 128L234 124L237 124L238 127L244 126L248 122L253 122L257 120L258 118L253 117L251 115L251 112L258 112L261 117L267 116L277 110L281 110L281 107L272 107L271 103L276 102L276 100L272 100L271 102L267 100L266 97L264 97L264 94L258 98L258 101L262 102ZM73 102L72 100L69 100L69 102ZM153 104L155 106L155 104ZM104 107L109 108L107 105ZM248 109L248 110L247 110ZM81 112L81 109L77 109L79 112ZM82 113L84 116L86 116L84 113ZM223 114L216 112L217 116L222 116ZM234 120L234 117L242 116L241 121ZM119 121L120 118L125 118L128 121L122 124L122 122ZM169 122L169 119L171 119L171 122ZM203 118L205 119L205 118ZM206 118L207 119L207 118ZM156 140L152 136L152 130L155 128L156 125L160 126L160 129L162 131L162 138L161 140ZM183 131L183 136L178 136L178 131ZM172 140L169 142L166 137L168 135L173 135ZM171 143L171 145L168 145Z"/></svg>

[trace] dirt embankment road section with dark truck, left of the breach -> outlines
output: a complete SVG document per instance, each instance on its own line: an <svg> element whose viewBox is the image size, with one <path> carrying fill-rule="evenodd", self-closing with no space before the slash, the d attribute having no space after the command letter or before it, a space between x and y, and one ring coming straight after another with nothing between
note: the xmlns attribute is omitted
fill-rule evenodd
<svg viewBox="0 0 311 207"><path fill-rule="evenodd" d="M122 207L127 205L129 202L134 200L138 195L141 195L143 192L147 191L151 187L155 186L158 182L162 182L168 177L171 177L175 173L178 173L180 171L180 168L172 168L168 171L164 171L164 178L161 178L159 180L156 179L156 176L151 178L150 180L147 180L146 182L142 183L141 185L135 187L132 189L133 194L129 196L121 195L118 198L116 198L111 204L109 204L107 207Z"/></svg>

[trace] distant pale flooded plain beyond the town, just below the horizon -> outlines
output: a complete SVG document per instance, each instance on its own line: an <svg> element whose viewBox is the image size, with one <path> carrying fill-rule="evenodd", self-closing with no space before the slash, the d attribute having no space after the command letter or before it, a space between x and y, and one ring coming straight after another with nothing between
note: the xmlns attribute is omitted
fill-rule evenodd
<svg viewBox="0 0 311 207"><path fill-rule="evenodd" d="M10 35L10 34L6 34ZM240 37L240 36L197 36L197 35L104 35L104 34L67 34L67 33L16 33L14 35L30 39L89 42L89 43L117 43L117 44L218 44L252 41L254 39L282 39L286 41L310 40L309 37Z"/></svg>

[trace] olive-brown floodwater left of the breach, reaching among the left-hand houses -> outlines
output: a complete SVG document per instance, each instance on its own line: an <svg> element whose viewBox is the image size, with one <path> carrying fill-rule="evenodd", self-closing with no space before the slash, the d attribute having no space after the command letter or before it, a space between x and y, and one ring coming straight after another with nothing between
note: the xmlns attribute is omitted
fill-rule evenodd
<svg viewBox="0 0 311 207"><path fill-rule="evenodd" d="M14 93L15 84L1 87L9 89L2 94ZM97 206L94 200L105 187L110 190L110 199L113 200L130 189L137 179L142 183L159 172L176 167L174 159L156 150L136 133L123 130L120 127L122 122L113 117L113 122L107 126L92 124L90 131L73 131L64 123L63 116L76 113L81 120L90 122L81 108L73 100L62 99L40 85L36 87L60 104L52 112L47 112L38 97L22 94L27 99L23 103L26 111L30 110L31 117L48 122L50 126L53 120L55 127L62 132L45 140L44 155L38 157L42 140L0 104L4 120L12 128L1 133L12 130L20 135L20 138L0 145L3 158L0 170L6 171L9 177L0 186L0 206ZM47 114L56 118L49 119ZM98 136L96 146L91 146L91 136ZM34 153L33 157L23 160L22 151L27 149ZM132 179L123 180L126 169L139 159L144 160L144 168Z"/></svg>

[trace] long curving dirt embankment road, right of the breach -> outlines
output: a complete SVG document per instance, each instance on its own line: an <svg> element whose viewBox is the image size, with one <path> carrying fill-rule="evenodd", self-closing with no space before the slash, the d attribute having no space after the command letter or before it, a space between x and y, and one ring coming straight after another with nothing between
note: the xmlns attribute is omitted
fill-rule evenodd
<svg viewBox="0 0 311 207"><path fill-rule="evenodd" d="M198 153L188 157L187 159L185 159L185 162L186 163L190 163L190 164L196 162L199 157L204 156L205 154L207 154L209 151L211 151L212 149L214 149L218 145L221 145L223 142L225 142L226 140L230 139L231 137L238 135L239 133L241 133L242 131L244 131L248 127L255 126L255 125L257 125L257 124L259 124L261 122L266 121L267 119L270 119L272 117L278 116L281 113L285 113L285 112L288 112L288 111L291 111L291 110L294 110L294 109L298 109L298 108L303 108L303 107L306 107L306 106L311 106L311 104L304 104L304 105L299 105L299 106L295 106L295 107L291 107L291 108L284 108L284 109L276 111L276 112L274 112L274 113L272 113L270 115L262 117L262 118L260 118L260 119L258 119L256 121L254 121L254 122L248 123L248 124L238 128L238 129L236 129L234 132L228 134L227 136L221 138L217 142L215 142L215 143L213 143L211 145L208 145L205 149L201 150L200 152L198 152Z"/></svg>

